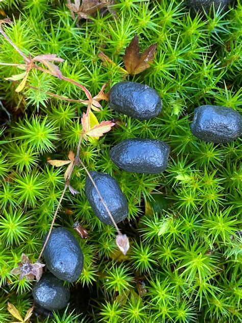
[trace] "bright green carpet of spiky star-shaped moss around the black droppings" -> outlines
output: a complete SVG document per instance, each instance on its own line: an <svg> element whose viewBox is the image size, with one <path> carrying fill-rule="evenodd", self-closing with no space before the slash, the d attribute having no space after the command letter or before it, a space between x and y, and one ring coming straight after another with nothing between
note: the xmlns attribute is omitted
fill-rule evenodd
<svg viewBox="0 0 242 323"><path fill-rule="evenodd" d="M120 0L116 20L111 14L98 15L82 20L80 28L65 1L4 0L0 8L14 19L4 29L25 54L64 58L63 75L84 84L93 96L104 83L111 86L124 79L118 66L124 67L122 56L135 34L142 49L158 42L152 67L128 79L158 91L161 116L140 122L111 111L104 102L96 117L118 119L118 127L81 148L88 169L114 176L129 201L130 222L120 228L130 237L130 251L122 258L114 228L93 215L84 194L86 174L76 168L71 183L81 193L66 194L56 224L71 229L79 220L88 229L87 240L77 236L85 266L78 284L70 285L72 294L80 292L78 305L72 299L53 321L239 322L241 239L235 232L241 228L240 142L204 143L192 136L189 126L193 110L202 104L241 111L241 1L229 13L218 11L202 19L190 17L179 0ZM0 46L1 62L23 62L3 37ZM104 66L100 50L117 66ZM47 91L85 96L74 85L39 71L28 78L39 90L26 87L15 93L17 85L5 78L18 73L15 66L0 69L0 96L12 114L0 141L0 322L13 320L7 302L23 316L32 305L33 283L18 281L9 272L22 252L33 261L38 258L64 186L64 168L54 169L46 161L76 151L86 110L48 99ZM167 142L167 170L154 176L115 167L110 147L131 137ZM145 215L144 202L154 204L157 195L161 210Z"/></svg>

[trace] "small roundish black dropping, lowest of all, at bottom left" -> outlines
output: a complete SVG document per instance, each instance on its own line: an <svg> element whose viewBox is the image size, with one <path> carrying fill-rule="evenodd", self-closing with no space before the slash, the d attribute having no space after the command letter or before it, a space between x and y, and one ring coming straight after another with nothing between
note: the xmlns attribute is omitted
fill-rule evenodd
<svg viewBox="0 0 242 323"><path fill-rule="evenodd" d="M44 273L32 291L37 304L49 311L57 311L66 307L70 298L69 289L52 273Z"/></svg>

